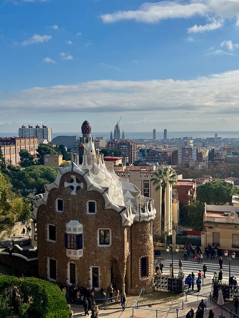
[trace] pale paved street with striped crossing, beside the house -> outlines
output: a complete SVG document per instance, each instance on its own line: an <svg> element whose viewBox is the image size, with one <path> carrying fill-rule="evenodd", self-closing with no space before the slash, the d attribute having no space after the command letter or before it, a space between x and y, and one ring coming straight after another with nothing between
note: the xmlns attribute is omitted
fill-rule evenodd
<svg viewBox="0 0 239 318"><path fill-rule="evenodd" d="M164 252L163 252L164 254ZM164 256L164 255L163 255ZM184 273L187 276L192 271L197 276L197 273L199 269L202 270L203 264L207 265L208 271L206 273L206 278L203 280L203 286L200 292L198 293L197 290L192 291L192 289L187 294L187 300L186 296L182 296L180 298L174 299L170 302L165 302L161 304L154 304L149 306L140 307L140 300L139 300L139 308L134 308L134 315L133 315L133 309L132 307L128 307L126 304L125 311L122 311L121 306L118 305L117 308L100 308L99 307L99 314L98 317L108 317L108 318L129 318L134 316L135 318L176 318L176 309L178 309L178 318L186 317L187 312L193 308L196 312L197 307L201 301L201 299L206 302L206 310L204 312L204 317L208 317L209 309L212 309L214 314L214 318L219 317L221 315L221 310L225 318L230 318L230 312L226 311L225 309L221 309L220 306L218 306L215 302L210 301L210 292L212 291L212 276L214 272L216 271L218 273L219 271L219 264L218 264L218 258L215 258L214 260L207 260L203 259L202 264L198 264L193 260L192 257L190 257L189 261L184 261L184 255L183 253L178 253L178 255L174 255L174 275L178 274L178 258L181 258L183 261L183 268ZM168 255L167 258L161 257L159 259L155 259L155 266L156 264L159 264L160 262L163 262L163 274L169 274L169 264L171 263L171 256ZM231 275L237 275L238 273L238 264L239 260L235 259L234 262L231 262ZM227 282L229 278L229 266L228 261L225 260L223 257L223 281ZM185 276L185 278L186 278ZM185 280L184 278L184 280ZM197 289L197 288L195 288ZM225 305L227 310L230 309L228 304ZM232 309L232 317L239 317L239 315L234 315L234 307L231 307ZM72 310L74 311L74 317L82 317L85 316L82 306L72 305ZM195 317L195 315L194 315Z"/></svg>

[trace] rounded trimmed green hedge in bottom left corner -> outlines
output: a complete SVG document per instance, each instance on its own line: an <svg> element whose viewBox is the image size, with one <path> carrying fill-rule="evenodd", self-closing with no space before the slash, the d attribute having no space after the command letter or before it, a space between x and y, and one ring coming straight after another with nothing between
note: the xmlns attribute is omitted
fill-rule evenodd
<svg viewBox="0 0 239 318"><path fill-rule="evenodd" d="M69 318L66 297L59 287L34 277L0 276L0 305L4 308L0 318L11 307L21 318Z"/></svg>

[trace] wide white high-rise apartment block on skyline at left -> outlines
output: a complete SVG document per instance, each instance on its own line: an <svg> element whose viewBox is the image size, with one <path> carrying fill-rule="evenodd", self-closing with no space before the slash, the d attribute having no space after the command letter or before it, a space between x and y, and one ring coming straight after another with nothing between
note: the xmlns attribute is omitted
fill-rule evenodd
<svg viewBox="0 0 239 318"><path fill-rule="evenodd" d="M38 137L40 143L43 140L47 140L47 142L51 142L51 128L42 125L42 127L36 125L35 127L28 125L22 125L21 128L18 129L18 134L20 138L30 138L30 137Z"/></svg>

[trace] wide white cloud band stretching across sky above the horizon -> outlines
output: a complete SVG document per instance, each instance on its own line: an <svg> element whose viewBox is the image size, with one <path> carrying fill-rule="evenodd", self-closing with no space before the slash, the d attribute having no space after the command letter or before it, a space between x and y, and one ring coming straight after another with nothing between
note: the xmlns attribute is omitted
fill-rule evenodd
<svg viewBox="0 0 239 318"><path fill-rule="evenodd" d="M180 119L184 116L238 117L239 70L193 80L91 81L35 87L0 100L0 111L34 113L137 113ZM1 119L4 120L4 119ZM239 120L239 118L238 118Z"/></svg>

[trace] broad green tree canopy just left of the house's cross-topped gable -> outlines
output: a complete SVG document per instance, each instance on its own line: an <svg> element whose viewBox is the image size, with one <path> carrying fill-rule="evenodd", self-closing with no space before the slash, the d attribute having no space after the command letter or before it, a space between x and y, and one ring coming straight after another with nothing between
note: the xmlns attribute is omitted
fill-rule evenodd
<svg viewBox="0 0 239 318"><path fill-rule="evenodd" d="M44 193L44 185L52 183L57 175L56 168L48 166L30 166L16 174L14 186L23 196L29 193Z"/></svg>

